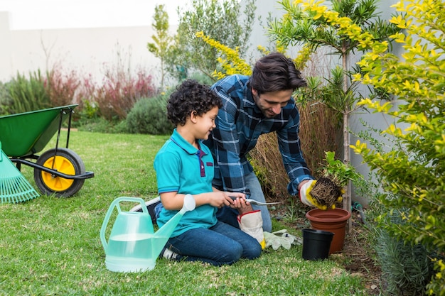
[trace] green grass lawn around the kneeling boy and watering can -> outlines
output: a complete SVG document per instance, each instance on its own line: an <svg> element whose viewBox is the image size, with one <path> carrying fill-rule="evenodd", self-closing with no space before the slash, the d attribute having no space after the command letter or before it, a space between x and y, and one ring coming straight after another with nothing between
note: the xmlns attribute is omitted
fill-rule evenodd
<svg viewBox="0 0 445 296"><path fill-rule="evenodd" d="M145 273L107 270L99 234L109 204L156 197L153 160L167 138L73 131L69 148L95 177L73 197L0 204L0 295L366 295L338 259L305 261L301 246L220 268L158 260ZM33 169L22 173L34 185Z"/></svg>

